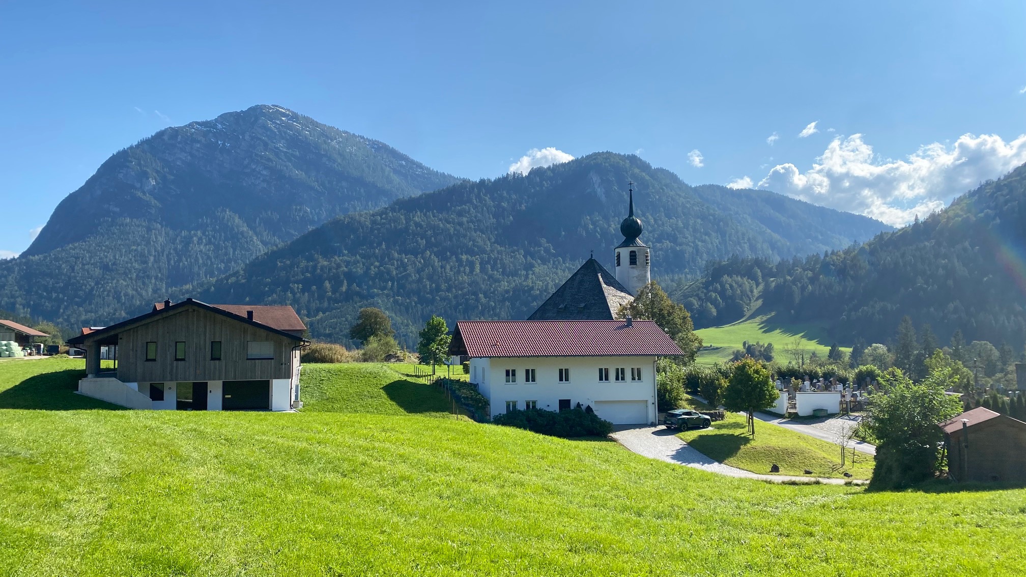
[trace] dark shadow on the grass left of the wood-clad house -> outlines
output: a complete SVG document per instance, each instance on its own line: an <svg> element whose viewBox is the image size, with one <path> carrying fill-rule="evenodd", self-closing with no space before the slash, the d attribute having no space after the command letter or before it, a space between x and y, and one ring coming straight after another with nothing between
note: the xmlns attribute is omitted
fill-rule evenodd
<svg viewBox="0 0 1026 577"><path fill-rule="evenodd" d="M35 361L40 362L40 361ZM0 409L32 409L39 411L77 411L107 409L124 411L124 407L76 394L78 381L85 371L68 369L33 375L21 383L0 391Z"/></svg>

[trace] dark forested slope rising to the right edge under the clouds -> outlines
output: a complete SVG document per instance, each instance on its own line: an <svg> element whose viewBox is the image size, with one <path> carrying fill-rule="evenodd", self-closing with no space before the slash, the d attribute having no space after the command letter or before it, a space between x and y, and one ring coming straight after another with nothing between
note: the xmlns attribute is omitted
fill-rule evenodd
<svg viewBox="0 0 1026 577"><path fill-rule="evenodd" d="M884 342L902 316L943 342L1026 342L1026 165L945 210L862 245L805 259L733 259L677 292L696 325L737 320L761 300L780 319L817 321L834 338Z"/></svg>

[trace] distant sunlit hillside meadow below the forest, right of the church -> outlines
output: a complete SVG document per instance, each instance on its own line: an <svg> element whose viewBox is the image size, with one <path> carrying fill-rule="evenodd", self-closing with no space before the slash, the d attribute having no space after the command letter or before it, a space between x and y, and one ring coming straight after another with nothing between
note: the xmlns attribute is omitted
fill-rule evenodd
<svg viewBox="0 0 1026 577"><path fill-rule="evenodd" d="M775 314L763 314L741 322L699 329L695 333L702 337L705 347L715 347L712 350L699 351L698 362L712 364L731 359L735 349L740 349L745 341L773 343L777 357L786 360L784 348L797 337L801 340L801 349L808 355L816 351L820 356L826 356L830 351L832 341L823 329L805 324L782 324L775 320ZM841 347L851 352L851 347Z"/></svg>

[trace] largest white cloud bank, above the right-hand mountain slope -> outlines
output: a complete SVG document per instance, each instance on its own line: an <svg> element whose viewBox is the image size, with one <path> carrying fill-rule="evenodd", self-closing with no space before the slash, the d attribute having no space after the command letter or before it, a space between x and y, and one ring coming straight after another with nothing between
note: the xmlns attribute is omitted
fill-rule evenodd
<svg viewBox="0 0 1026 577"><path fill-rule="evenodd" d="M813 167L778 164L764 188L900 226L943 208L955 196L1026 162L1026 134L963 134L954 144L920 147L905 159L881 159L862 134L837 137Z"/></svg>

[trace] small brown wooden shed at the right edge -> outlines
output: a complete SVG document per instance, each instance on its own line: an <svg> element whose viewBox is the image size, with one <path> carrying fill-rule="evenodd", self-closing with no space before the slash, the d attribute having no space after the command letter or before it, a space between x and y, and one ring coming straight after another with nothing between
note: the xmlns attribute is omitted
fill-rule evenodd
<svg viewBox="0 0 1026 577"><path fill-rule="evenodd" d="M1026 483L1026 423L977 407L941 428L951 478Z"/></svg>

